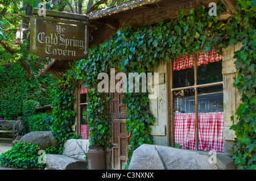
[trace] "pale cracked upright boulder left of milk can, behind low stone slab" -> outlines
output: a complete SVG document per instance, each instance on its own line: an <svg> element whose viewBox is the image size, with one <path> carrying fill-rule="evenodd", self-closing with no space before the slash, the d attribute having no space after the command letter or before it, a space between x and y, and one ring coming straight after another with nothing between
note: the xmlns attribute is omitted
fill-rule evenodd
<svg viewBox="0 0 256 181"><path fill-rule="evenodd" d="M85 161L85 153L89 149L89 140L67 140L64 144L63 155Z"/></svg>

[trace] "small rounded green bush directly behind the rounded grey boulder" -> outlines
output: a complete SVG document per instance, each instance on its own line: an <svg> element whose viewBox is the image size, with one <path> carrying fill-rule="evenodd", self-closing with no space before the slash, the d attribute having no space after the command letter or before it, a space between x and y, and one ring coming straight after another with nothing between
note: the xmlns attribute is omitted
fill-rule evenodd
<svg viewBox="0 0 256 181"><path fill-rule="evenodd" d="M38 113L27 120L28 132L51 131L52 116L49 113Z"/></svg>

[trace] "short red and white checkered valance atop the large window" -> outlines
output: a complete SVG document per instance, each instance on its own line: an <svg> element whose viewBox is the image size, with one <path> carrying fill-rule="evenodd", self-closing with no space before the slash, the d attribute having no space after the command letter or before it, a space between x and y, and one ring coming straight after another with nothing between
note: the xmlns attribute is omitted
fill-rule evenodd
<svg viewBox="0 0 256 181"><path fill-rule="evenodd" d="M208 53L199 53L197 56L197 66L201 64L208 64L209 62L217 62L222 60L222 56L218 54L215 50L211 50ZM174 70L183 70L187 68L192 68L194 65L195 56L192 54L191 56L180 56L173 62Z"/></svg>

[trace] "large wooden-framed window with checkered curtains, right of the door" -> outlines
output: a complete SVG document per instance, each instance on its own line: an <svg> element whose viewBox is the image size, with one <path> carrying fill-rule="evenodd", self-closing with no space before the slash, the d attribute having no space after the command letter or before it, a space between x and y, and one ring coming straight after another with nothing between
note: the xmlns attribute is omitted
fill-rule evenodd
<svg viewBox="0 0 256 181"><path fill-rule="evenodd" d="M218 55L202 61L205 54L172 62L171 143L183 149L223 152L222 61Z"/></svg>

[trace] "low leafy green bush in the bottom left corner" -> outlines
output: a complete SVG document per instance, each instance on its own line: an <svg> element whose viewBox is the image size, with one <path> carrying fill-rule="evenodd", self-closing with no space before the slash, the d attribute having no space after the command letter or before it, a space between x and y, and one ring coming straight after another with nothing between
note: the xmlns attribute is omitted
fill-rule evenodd
<svg viewBox="0 0 256 181"><path fill-rule="evenodd" d="M14 168L38 168L44 167L44 163L39 163L38 151L40 147L35 144L18 142L9 151L0 155L0 164L2 166Z"/></svg>

